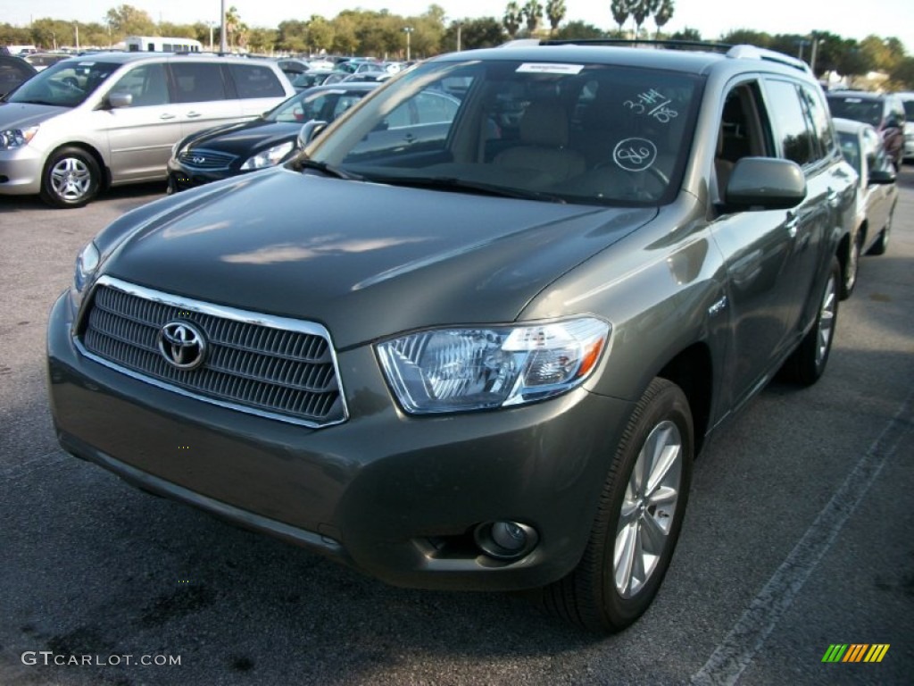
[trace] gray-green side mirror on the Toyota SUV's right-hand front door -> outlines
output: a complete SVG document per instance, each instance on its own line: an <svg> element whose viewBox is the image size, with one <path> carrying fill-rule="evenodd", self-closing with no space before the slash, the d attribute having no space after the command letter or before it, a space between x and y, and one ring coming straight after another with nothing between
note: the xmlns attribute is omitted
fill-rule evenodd
<svg viewBox="0 0 914 686"><path fill-rule="evenodd" d="M743 157L733 167L724 194L728 209L791 209L806 198L806 177L795 162Z"/></svg>

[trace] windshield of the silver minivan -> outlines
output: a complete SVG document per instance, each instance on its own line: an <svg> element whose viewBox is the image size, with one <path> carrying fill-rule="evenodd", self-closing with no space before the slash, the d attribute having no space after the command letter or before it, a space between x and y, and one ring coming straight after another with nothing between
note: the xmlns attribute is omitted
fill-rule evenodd
<svg viewBox="0 0 914 686"><path fill-rule="evenodd" d="M66 59L39 71L7 100L76 107L120 66L92 59Z"/></svg>

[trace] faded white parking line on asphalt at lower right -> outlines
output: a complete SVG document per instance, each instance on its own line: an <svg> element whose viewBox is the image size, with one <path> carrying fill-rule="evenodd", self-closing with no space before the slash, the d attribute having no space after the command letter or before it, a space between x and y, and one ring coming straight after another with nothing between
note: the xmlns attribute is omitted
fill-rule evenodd
<svg viewBox="0 0 914 686"><path fill-rule="evenodd" d="M749 609L739 617L727 637L707 659L705 666L692 676L692 684L717 686L734 684L739 680L781 616L799 595L815 566L832 547L845 521L864 498L882 467L911 433L914 423L908 415L912 399L914 391L901 403L898 412L847 475L841 488L835 491L787 559L755 596Z"/></svg>

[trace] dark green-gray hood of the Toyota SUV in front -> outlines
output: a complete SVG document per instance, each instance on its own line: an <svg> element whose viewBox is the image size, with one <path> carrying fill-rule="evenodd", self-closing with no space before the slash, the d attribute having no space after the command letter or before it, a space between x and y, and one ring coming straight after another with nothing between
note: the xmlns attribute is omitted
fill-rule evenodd
<svg viewBox="0 0 914 686"><path fill-rule="evenodd" d="M655 215L281 166L125 216L100 235L107 245L122 236L102 273L319 322L347 348L420 327L513 321L547 284Z"/></svg>

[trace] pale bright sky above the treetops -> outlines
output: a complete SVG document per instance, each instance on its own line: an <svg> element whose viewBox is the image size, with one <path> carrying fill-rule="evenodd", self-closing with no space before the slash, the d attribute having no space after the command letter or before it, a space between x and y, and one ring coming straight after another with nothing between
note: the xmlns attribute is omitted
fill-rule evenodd
<svg viewBox="0 0 914 686"><path fill-rule="evenodd" d="M566 21L581 20L600 28L615 28L611 0L565 0ZM501 16L508 0L439 0L447 18ZM546 0L540 0L545 5ZM313 14L327 18L344 9L388 9L391 14L420 15L430 0L225 0L234 5L242 21L252 27L276 27L284 19L307 19ZM523 4L523 0L520 0ZM101 23L117 5L143 9L154 21L192 24L218 21L220 0L0 0L0 22L27 26L32 19L52 17ZM853 9L853 11L851 11ZM654 29L652 20L646 26ZM806 34L829 31L844 38L876 34L896 37L914 55L914 12L910 0L866 0L864 3L834 3L828 0L675 0L672 20L664 27L672 33L697 28L703 38L715 39L736 28L768 33Z"/></svg>

